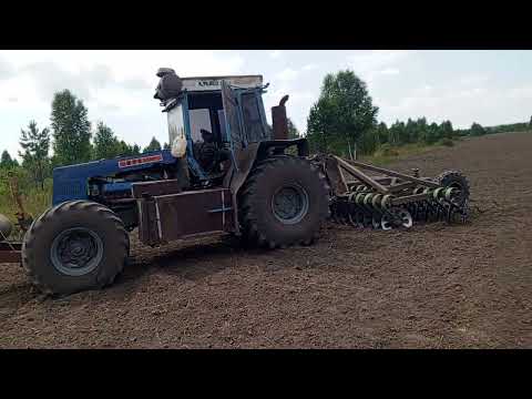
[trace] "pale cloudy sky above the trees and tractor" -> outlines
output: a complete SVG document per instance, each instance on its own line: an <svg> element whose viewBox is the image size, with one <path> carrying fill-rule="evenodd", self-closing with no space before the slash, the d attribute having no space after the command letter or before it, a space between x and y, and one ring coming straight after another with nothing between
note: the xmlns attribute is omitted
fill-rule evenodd
<svg viewBox="0 0 532 399"><path fill-rule="evenodd" d="M50 125L53 93L71 90L93 126L109 125L127 143L167 141L165 114L153 99L161 66L180 76L262 74L266 114L289 94L288 116L306 130L324 76L350 69L367 85L378 120L426 116L495 125L532 115L532 51L449 50L0 50L0 151L19 151L31 120Z"/></svg>

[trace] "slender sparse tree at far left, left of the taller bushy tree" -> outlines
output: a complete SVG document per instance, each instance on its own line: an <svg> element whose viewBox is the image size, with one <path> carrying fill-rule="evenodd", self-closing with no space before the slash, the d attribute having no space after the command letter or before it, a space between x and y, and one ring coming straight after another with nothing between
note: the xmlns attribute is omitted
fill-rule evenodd
<svg viewBox="0 0 532 399"><path fill-rule="evenodd" d="M35 121L30 121L28 130L21 130L19 152L22 157L22 166L33 177L37 185L44 190L44 180L51 175L50 157L50 131L48 127L39 131Z"/></svg>

